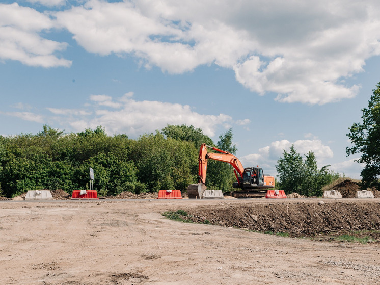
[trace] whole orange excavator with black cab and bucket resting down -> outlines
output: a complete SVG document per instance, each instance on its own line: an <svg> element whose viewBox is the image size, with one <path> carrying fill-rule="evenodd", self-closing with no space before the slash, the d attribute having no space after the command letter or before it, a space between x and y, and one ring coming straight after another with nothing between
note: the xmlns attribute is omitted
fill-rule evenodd
<svg viewBox="0 0 380 285"><path fill-rule="evenodd" d="M207 148L217 151L217 153L207 152ZM255 198L265 196L268 188L275 188L275 178L273 176L264 176L260 167L244 168L237 157L228 151L208 146L205 143L201 145L198 158L198 183L191 184L187 187L189 198L202 198L202 193L206 186L206 173L208 159L223 161L233 166L237 181L233 183L235 191L223 193L235 198Z"/></svg>

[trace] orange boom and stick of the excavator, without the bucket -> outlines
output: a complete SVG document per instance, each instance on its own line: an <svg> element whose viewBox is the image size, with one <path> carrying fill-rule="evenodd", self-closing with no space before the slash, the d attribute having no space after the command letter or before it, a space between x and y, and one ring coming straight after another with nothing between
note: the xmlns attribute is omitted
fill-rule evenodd
<svg viewBox="0 0 380 285"><path fill-rule="evenodd" d="M218 151L219 153L209 153L207 152L207 148ZM198 183L206 183L206 173L207 173L207 160L213 159L218 161L223 161L231 164L234 168L234 173L241 186L241 179L243 177L244 167L239 161L237 157L228 151L221 150L216 147L208 146L205 143L201 145L199 150L199 158L198 158Z"/></svg>

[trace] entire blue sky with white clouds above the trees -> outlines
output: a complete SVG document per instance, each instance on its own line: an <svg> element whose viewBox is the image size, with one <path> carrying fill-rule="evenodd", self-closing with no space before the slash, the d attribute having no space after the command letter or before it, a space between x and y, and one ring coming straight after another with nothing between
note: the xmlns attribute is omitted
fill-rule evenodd
<svg viewBox="0 0 380 285"><path fill-rule="evenodd" d="M380 82L377 0L0 1L0 135L232 128L243 166L294 145L360 179L346 134Z"/></svg>

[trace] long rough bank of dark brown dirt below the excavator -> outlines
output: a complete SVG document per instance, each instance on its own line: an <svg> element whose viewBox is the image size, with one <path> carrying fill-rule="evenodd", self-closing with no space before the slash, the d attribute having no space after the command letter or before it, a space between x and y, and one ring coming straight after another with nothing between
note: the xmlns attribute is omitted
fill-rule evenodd
<svg viewBox="0 0 380 285"><path fill-rule="evenodd" d="M310 201L310 200L309 200ZM230 204L230 205L229 205ZM282 202L253 205L232 203L185 209L187 219L262 232L288 232L290 236L380 230L379 202Z"/></svg>

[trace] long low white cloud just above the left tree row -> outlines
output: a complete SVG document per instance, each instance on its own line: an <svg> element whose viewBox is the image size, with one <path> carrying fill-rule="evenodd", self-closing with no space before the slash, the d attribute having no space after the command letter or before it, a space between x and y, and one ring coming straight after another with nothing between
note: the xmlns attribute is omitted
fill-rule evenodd
<svg viewBox="0 0 380 285"><path fill-rule="evenodd" d="M133 93L129 92L114 100L108 95L91 95L88 110L59 108L47 108L47 110L57 116L50 119L67 124L75 131L101 125L108 134L125 133L132 137L155 132L167 124L194 125L202 128L205 135L212 137L218 126L224 127L233 123L232 117L225 114L203 115L193 111L188 105L138 101L132 96ZM67 128L66 125L62 127Z"/></svg>

